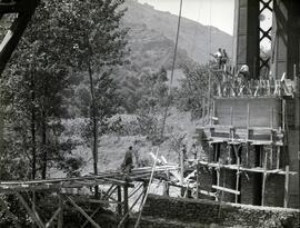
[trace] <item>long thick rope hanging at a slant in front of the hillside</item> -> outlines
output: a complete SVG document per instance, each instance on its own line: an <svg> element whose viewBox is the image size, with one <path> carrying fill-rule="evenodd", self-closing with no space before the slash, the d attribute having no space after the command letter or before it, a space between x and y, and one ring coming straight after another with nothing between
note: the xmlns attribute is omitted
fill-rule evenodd
<svg viewBox="0 0 300 228"><path fill-rule="evenodd" d="M163 137L164 127L166 127L166 120L168 115L168 109L170 106L170 97L172 95L172 83L173 83L173 76L174 76L174 66L176 66L176 58L177 58L177 49L178 49L178 39L179 39L179 30L180 30L180 22L181 22L181 11L182 11L182 0L180 0L180 7L179 7L179 16L178 16L178 24L177 24L177 34L176 34L176 46L174 46L174 56L173 56L173 62L172 62L172 70L171 70L171 79L169 85L169 98L168 102L164 109L163 119L162 119L162 128L161 128L161 137Z"/></svg>

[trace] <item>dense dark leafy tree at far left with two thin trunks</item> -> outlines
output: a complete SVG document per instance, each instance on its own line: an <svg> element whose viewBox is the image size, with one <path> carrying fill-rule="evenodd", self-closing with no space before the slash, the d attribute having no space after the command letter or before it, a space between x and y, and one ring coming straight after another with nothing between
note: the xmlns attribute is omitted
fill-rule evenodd
<svg viewBox="0 0 300 228"><path fill-rule="evenodd" d="M60 8L53 0L41 2L1 85L8 131L14 132L13 140L27 155L32 179L38 169L44 179L48 161L61 151L58 136L62 132L60 117L66 112L62 101L69 86L69 58L60 42L66 30L57 26ZM10 146L16 148L16 143Z"/></svg>

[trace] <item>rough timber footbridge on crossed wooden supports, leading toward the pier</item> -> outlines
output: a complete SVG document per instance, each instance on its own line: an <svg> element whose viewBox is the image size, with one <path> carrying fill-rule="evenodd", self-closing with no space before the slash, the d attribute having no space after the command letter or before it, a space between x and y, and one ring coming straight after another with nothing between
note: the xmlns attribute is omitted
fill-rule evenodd
<svg viewBox="0 0 300 228"><path fill-rule="evenodd" d="M126 222L129 212L132 208L143 202L149 192L150 184L153 180L169 181L170 172L178 169L174 165L160 165L152 167L134 168L131 172L124 174L121 170L106 171L97 176L90 175L74 178L52 178L46 180L29 180L29 181L0 181L0 215L6 214L16 227L21 227L17 215L10 211L7 204L6 196L14 195L20 205L26 209L32 221L39 228L46 227L63 227L63 207L68 204L78 212L80 212L87 220L81 227L86 227L89 222L99 228L100 226L94 221L94 217L103 204L117 205L116 214L122 219L119 221L119 227ZM81 189L89 189L93 186L100 187L101 195L97 198L87 197L86 204L99 204L93 212L86 212L79 206L79 196L82 195ZM130 190L129 192L129 189ZM142 190L141 190L142 189ZM36 196L38 194L49 192L54 196L57 209L52 216L43 221L37 211ZM141 200L142 198L142 200Z"/></svg>

